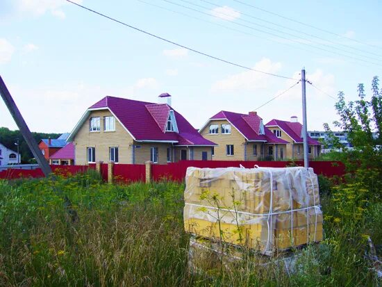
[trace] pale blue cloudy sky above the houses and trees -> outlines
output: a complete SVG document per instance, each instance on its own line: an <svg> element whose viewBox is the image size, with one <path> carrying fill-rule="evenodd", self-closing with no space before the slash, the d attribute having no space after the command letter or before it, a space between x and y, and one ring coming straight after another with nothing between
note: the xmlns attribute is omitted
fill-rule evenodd
<svg viewBox="0 0 382 287"><path fill-rule="evenodd" d="M332 98L338 91L356 100L364 83L370 96L373 76L382 76L379 0L75 1L183 46L292 79L195 54L65 0L1 0L0 75L31 131L72 131L106 95L158 102L162 92L195 128L219 110L256 110L265 123L297 115L301 122L301 83L262 105L297 83L303 67L321 90L307 83L308 130L322 130L338 120ZM17 129L3 101L0 126Z"/></svg>

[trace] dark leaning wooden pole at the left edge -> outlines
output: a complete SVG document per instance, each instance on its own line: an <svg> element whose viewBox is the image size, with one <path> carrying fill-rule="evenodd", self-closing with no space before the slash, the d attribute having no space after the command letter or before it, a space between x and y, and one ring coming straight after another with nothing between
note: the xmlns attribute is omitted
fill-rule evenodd
<svg viewBox="0 0 382 287"><path fill-rule="evenodd" d="M12 96L10 95L10 92L8 91L8 88L6 84L4 83L3 79L0 76L0 94L3 98L3 101L6 103L6 106L8 110L10 111L10 114L13 117L13 120L15 120L17 126L19 127L19 131L22 133L22 136L24 137L24 140L28 144L29 149L31 149L33 156L35 156L36 160L38 161L38 165L40 165L40 168L42 172L44 172L45 177L47 177L48 174L51 174L51 167L45 160L44 156L42 155L42 152L38 148L37 143L35 142L35 139L32 136L31 131L29 131L28 126L26 125L26 122L24 121L24 118L22 117L22 114L19 111L19 108L17 108L15 101L13 101Z"/></svg>

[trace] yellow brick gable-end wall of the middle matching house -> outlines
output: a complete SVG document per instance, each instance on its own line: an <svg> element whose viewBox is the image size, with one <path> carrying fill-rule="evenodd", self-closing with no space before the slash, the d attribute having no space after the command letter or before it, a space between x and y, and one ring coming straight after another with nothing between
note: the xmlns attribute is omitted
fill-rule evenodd
<svg viewBox="0 0 382 287"><path fill-rule="evenodd" d="M219 133L216 135L210 134L210 124L219 125ZM231 124L231 134L222 134L222 124L229 124L227 120L212 120L204 129L201 130L201 136L207 140L215 142L218 146L215 147L214 161L244 161L245 138ZM233 145L233 156L226 155L226 145ZM248 154L248 153L247 153Z"/></svg>

